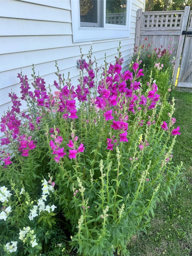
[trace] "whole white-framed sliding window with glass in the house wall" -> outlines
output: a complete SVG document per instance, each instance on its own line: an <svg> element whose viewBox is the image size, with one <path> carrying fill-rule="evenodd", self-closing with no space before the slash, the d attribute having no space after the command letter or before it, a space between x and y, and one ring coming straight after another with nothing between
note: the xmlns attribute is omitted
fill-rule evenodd
<svg viewBox="0 0 192 256"><path fill-rule="evenodd" d="M131 0L71 0L73 42L130 36Z"/></svg>

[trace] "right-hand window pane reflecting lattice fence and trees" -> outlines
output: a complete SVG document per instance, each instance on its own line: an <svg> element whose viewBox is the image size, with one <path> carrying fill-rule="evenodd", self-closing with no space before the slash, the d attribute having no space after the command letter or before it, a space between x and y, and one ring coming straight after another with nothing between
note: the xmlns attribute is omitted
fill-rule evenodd
<svg viewBox="0 0 192 256"><path fill-rule="evenodd" d="M126 25L127 0L106 0L106 23Z"/></svg>

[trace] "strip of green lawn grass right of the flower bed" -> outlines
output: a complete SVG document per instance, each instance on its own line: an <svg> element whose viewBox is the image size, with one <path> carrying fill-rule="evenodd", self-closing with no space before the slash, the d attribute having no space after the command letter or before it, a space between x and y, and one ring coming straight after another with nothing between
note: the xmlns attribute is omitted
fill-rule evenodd
<svg viewBox="0 0 192 256"><path fill-rule="evenodd" d="M183 162L183 177L173 197L159 203L147 234L128 244L130 256L192 255L192 94L173 91L176 99L174 127L180 126L173 149L173 163Z"/></svg>

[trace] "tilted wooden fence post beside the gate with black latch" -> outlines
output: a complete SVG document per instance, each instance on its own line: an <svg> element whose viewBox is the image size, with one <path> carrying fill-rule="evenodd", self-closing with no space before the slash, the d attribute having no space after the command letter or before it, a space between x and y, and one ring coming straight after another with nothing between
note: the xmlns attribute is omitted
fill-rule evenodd
<svg viewBox="0 0 192 256"><path fill-rule="evenodd" d="M176 54L176 60L175 60L175 69L174 69L174 72L173 72L173 83L174 83L174 85L176 83L177 72L178 72L178 69L179 69L179 64L180 64L180 59L181 59L183 44L184 44L184 38L185 38L185 35L182 35L182 32L187 29L187 21L188 21L188 17L189 17L189 12L190 12L190 6L186 6L185 9L184 9L184 14L183 14L182 27L181 27L181 33L180 33L180 41L179 41L178 48L177 48L177 54Z"/></svg>

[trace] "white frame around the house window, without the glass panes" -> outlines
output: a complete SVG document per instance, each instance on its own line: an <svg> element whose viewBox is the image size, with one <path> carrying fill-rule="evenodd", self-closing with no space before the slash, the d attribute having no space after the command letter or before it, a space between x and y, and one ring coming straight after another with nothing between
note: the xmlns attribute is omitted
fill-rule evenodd
<svg viewBox="0 0 192 256"><path fill-rule="evenodd" d="M71 0L73 43L130 37L132 0L127 0L126 25L107 24L106 0L104 0L104 26L81 27L79 0Z"/></svg>

